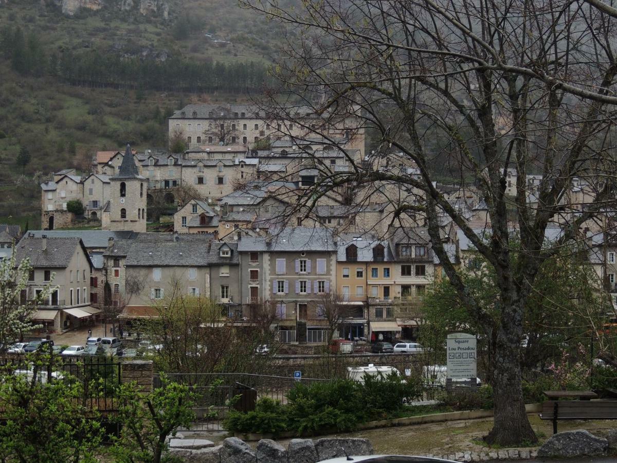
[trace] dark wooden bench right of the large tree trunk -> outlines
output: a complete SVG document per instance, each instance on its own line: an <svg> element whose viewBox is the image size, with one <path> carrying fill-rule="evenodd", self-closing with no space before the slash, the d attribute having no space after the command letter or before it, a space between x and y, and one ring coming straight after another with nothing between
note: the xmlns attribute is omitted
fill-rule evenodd
<svg viewBox="0 0 617 463"><path fill-rule="evenodd" d="M558 420L617 420L617 400L551 400L542 404L540 419L553 421L553 434Z"/></svg>

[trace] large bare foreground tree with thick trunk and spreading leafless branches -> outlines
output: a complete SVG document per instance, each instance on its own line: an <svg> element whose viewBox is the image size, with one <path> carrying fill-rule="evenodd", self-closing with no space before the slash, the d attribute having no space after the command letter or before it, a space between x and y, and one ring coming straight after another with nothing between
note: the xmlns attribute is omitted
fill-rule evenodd
<svg viewBox="0 0 617 463"><path fill-rule="evenodd" d="M314 194L294 210L306 214L325 191L349 185L360 203L378 194L389 201L393 225L423 215L450 283L489 333L495 415L486 440L537 441L521 390L522 320L541 262L582 238L584 227L610 223L614 211L613 21L569 0L323 0L300 9L276 0L241 3L287 30L281 87L260 102L269 114L326 143L336 140L325 127L349 115L350 138L366 128L378 134L379 149L365 159L348 155L347 172L315 159ZM300 105L325 122L297 119ZM393 151L400 165L389 162ZM535 191L526 177L532 173L542 177ZM436 188L444 176L476 184L488 209L488 240ZM572 204L581 181L589 194ZM411 193L383 193L392 190ZM447 220L494 269L497 316L470 295L450 262L440 235ZM550 227L560 231L547 248Z"/></svg>

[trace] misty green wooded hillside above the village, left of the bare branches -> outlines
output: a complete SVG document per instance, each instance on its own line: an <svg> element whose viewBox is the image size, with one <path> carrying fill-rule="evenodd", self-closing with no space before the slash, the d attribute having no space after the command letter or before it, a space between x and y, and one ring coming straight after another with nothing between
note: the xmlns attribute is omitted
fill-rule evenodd
<svg viewBox="0 0 617 463"><path fill-rule="evenodd" d="M50 172L126 141L165 147L173 110L267 80L278 31L234 0L167 0L167 17L101 4L0 1L0 219L38 211Z"/></svg>

